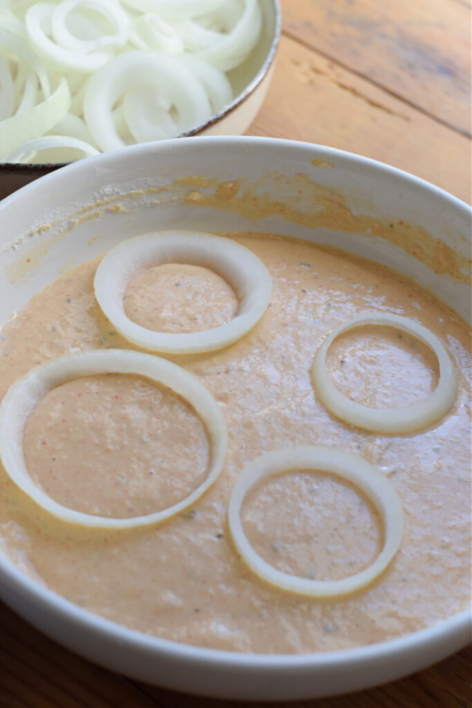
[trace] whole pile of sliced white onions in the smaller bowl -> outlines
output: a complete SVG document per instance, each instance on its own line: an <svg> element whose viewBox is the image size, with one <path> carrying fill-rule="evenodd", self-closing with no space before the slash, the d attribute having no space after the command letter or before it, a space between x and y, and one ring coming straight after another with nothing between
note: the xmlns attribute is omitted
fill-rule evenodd
<svg viewBox="0 0 472 708"><path fill-rule="evenodd" d="M70 161L202 125L233 101L224 72L258 42L259 2L3 0L0 161Z"/></svg>

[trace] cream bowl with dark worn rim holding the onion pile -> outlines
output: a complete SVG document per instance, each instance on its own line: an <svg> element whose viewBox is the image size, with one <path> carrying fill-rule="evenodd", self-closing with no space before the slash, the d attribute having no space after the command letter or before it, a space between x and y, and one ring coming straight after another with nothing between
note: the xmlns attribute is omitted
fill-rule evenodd
<svg viewBox="0 0 472 708"><path fill-rule="evenodd" d="M231 69L227 74L235 96L234 101L201 125L195 125L175 137L242 135L253 122L272 79L282 25L280 0L260 0L260 6L263 11L263 25L258 43L243 64ZM0 199L64 164L66 163L0 162Z"/></svg>

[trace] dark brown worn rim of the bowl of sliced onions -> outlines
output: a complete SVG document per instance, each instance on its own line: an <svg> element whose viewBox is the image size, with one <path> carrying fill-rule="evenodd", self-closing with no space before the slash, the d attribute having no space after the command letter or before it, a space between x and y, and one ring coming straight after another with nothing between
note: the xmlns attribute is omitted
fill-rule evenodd
<svg viewBox="0 0 472 708"><path fill-rule="evenodd" d="M272 41L270 42L270 47L269 51L267 52L267 56L264 59L263 65L260 67L258 70L257 74L253 76L253 79L245 86L243 91L241 93L238 93L237 96L234 97L233 101L229 103L228 105L224 105L221 110L218 111L218 113L214 113L214 115L211 115L210 118L205 120L205 122L199 123L198 125L195 125L194 127L190 128L190 130L185 130L184 132L178 133L178 135L173 135L171 138L168 138L169 140L175 140L176 138L182 138L182 137L192 137L192 136L197 136L200 135L200 133L203 130L207 130L207 128L212 127L212 125L215 125L219 120L222 118L226 118L227 115L230 115L230 113L233 113L238 106L240 106L244 101L246 101L249 96L251 96L252 93L254 93L255 89L258 88L260 84L262 84L263 80L269 73L272 64L274 63L275 60L275 55L277 53L277 48L280 44L280 37L282 35L282 8L280 6L280 0L270 0L274 6L274 11L275 11L275 23L274 23L274 33L272 36ZM166 142L164 140L159 141L159 142ZM149 145L149 142L144 142L144 143L137 143L138 145ZM125 147L134 147L127 145ZM120 148L123 149L123 148ZM107 151L107 152L112 152L112 151ZM116 151L113 151L116 152ZM100 153L100 154L105 154L105 153ZM84 159L84 158L82 158ZM79 160L74 160L74 162L81 162L82 159ZM13 174L22 174L22 173L28 173L30 171L54 171L56 169L59 169L61 167L65 167L67 165L74 164L71 162L35 162L35 163L23 163L23 162L0 162L0 171L6 171L10 172Z"/></svg>

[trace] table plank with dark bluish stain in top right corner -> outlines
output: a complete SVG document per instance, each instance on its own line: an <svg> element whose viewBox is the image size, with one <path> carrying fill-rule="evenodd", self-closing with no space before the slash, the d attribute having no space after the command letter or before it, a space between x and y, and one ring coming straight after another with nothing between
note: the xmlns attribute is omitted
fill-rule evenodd
<svg viewBox="0 0 472 708"><path fill-rule="evenodd" d="M282 0L284 31L470 135L471 8L454 0Z"/></svg>

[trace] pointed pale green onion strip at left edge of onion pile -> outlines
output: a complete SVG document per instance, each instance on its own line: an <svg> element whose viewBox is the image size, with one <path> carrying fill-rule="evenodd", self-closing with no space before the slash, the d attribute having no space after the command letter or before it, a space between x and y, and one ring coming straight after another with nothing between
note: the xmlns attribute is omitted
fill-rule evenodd
<svg viewBox="0 0 472 708"><path fill-rule="evenodd" d="M71 96L66 79L61 79L56 91L46 101L38 103L29 110L23 110L11 118L0 122L0 159L5 159L12 150L21 147L51 130L59 120L64 118Z"/></svg>

